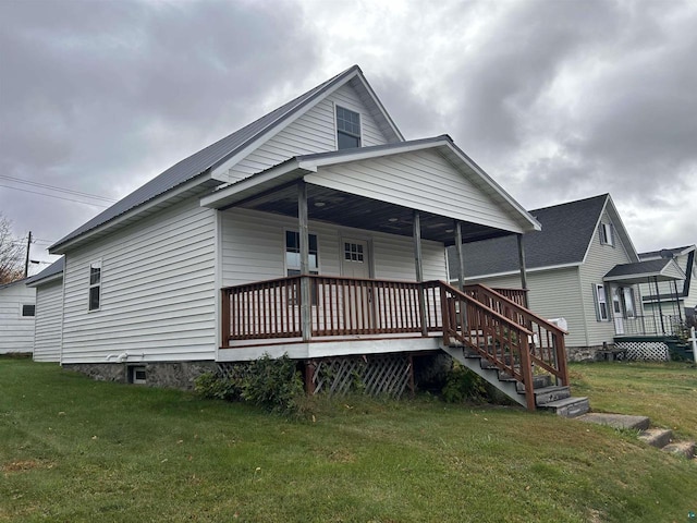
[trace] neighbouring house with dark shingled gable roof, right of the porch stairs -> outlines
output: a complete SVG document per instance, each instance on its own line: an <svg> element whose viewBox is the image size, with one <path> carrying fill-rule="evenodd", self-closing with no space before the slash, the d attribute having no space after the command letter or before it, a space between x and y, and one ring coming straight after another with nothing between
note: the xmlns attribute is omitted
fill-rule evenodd
<svg viewBox="0 0 697 523"><path fill-rule="evenodd" d="M644 333L640 281L684 278L671 260L639 260L609 194L530 215L542 230L523 236L528 306L546 318L566 320L571 358L592 357L617 336ZM449 256L453 281L452 248ZM511 236L468 245L464 266L466 283L523 287Z"/></svg>

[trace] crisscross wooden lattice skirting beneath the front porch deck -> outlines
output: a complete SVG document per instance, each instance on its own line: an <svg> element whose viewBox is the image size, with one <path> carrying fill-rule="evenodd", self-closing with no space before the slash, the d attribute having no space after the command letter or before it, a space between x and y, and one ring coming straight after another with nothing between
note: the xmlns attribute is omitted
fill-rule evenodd
<svg viewBox="0 0 697 523"><path fill-rule="evenodd" d="M405 390L413 391L412 358L406 354L325 357L310 362L310 368L315 393L358 390L400 398Z"/></svg>

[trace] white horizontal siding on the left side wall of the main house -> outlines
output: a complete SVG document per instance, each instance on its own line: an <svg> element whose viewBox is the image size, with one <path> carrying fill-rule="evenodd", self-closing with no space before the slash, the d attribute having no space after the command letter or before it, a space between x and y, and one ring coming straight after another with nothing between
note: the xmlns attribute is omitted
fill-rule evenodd
<svg viewBox="0 0 697 523"><path fill-rule="evenodd" d="M62 363L212 360L215 211L198 198L69 253ZM101 260L99 311L87 311L89 266Z"/></svg>

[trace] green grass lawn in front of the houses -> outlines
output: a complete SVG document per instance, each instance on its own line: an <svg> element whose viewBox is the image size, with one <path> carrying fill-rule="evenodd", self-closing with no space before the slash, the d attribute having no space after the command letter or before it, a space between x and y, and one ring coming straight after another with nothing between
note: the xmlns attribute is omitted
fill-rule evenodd
<svg viewBox="0 0 697 523"><path fill-rule="evenodd" d="M656 388L656 419L697 435L696 369L572 372L600 410L655 417ZM695 463L634 434L517 408L351 399L297 422L0 360L0 521L683 522L695 492Z"/></svg>

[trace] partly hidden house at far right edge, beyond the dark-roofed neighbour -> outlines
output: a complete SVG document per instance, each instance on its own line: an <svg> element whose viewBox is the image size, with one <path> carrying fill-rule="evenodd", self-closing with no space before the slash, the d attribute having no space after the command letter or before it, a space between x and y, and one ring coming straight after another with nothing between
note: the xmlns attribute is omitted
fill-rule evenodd
<svg viewBox="0 0 697 523"><path fill-rule="evenodd" d="M697 316L696 245L640 253L641 260L673 259L685 272L683 281L646 281L640 284L647 315L670 315L672 323ZM658 292L657 292L658 284ZM657 299L659 296L659 299Z"/></svg>

